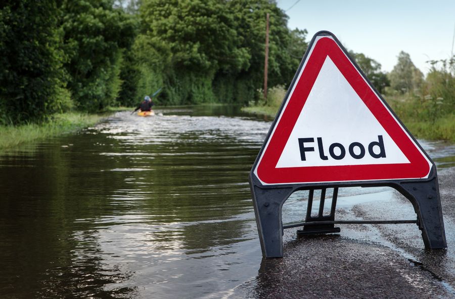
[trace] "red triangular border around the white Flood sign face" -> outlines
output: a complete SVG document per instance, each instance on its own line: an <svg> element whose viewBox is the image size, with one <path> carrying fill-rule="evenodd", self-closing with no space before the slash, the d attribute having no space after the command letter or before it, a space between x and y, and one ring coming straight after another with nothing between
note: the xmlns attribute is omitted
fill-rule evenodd
<svg viewBox="0 0 455 299"><path fill-rule="evenodd" d="M275 167L327 56L338 67L354 91L367 105L368 109L370 109L410 163ZM295 85L294 92L281 113L281 118L278 120L275 130L272 131L269 137L270 140L256 167L256 175L260 181L265 184L295 184L420 179L428 177L431 169L430 162L334 39L322 37L315 41L313 51L307 58L307 64Z"/></svg>

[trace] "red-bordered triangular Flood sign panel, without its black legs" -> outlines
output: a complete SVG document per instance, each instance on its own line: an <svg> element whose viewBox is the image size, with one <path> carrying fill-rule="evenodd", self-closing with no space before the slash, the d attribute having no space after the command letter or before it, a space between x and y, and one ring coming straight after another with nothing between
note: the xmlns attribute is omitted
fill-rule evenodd
<svg viewBox="0 0 455 299"><path fill-rule="evenodd" d="M264 185L422 179L432 162L329 32L317 33L255 163Z"/></svg>

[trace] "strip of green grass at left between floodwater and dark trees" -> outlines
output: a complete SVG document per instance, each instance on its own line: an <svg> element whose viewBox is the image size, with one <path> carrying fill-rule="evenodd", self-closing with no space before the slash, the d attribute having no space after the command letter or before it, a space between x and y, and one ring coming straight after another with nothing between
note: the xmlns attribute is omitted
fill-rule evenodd
<svg viewBox="0 0 455 299"><path fill-rule="evenodd" d="M99 122L106 114L62 113L47 122L0 126L0 150L80 130Z"/></svg>

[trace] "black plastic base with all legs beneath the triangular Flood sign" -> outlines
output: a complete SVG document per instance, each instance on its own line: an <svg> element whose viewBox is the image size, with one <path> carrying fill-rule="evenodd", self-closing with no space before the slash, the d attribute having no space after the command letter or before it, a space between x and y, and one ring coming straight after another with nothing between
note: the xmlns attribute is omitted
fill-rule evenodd
<svg viewBox="0 0 455 299"><path fill-rule="evenodd" d="M434 168L433 168L434 169ZM397 222L344 222L344 223L417 223L422 230L422 239L425 248L439 249L447 247L445 240L444 224L442 221L442 210L439 197L438 181L435 170L432 171L430 179L418 181L387 181L384 183L359 183L359 184L315 184L315 185L285 185L285 186L264 186L259 180L250 174L251 193L253 195L254 212L256 214L257 229L261 243L262 255L265 258L283 257L283 223L281 212L283 203L289 196L299 190L310 190L308 199L307 217L303 223L303 230L299 234L321 234L339 232L339 228L334 227L336 197L339 187L376 187L389 186L396 189L411 201L417 214L415 221ZM323 216L323 207L326 188L334 188L332 208L330 215ZM311 217L312 195L314 189L321 189L321 203L319 215ZM324 198L323 198L324 197ZM321 224L317 224L321 222ZM306 225L305 225L306 224ZM295 227L295 226L291 226ZM338 230L338 231L337 231Z"/></svg>

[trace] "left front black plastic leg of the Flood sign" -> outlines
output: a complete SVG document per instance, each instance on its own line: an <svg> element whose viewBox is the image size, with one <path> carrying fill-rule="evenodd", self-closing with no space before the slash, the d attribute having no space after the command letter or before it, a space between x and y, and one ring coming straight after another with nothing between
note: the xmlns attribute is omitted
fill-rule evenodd
<svg viewBox="0 0 455 299"><path fill-rule="evenodd" d="M265 189L252 187L257 230L264 258L283 257L281 208L293 188Z"/></svg>

